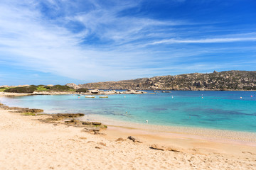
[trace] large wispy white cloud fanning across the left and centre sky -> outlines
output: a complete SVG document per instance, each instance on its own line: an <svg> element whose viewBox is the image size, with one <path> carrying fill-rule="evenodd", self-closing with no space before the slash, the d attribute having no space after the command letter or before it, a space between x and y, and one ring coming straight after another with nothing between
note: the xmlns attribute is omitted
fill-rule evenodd
<svg viewBox="0 0 256 170"><path fill-rule="evenodd" d="M256 41L255 34L196 39L200 31L187 30L200 23L124 13L141 8L141 2L1 1L0 64L8 61L10 67L85 81L132 79L216 67L198 62L215 54L214 47L190 49L186 44Z"/></svg>

